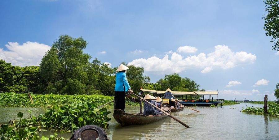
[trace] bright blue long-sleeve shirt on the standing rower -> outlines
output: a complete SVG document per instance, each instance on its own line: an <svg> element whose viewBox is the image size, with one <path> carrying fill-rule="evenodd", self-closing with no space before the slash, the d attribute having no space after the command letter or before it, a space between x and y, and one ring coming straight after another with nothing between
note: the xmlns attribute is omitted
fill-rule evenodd
<svg viewBox="0 0 279 140"><path fill-rule="evenodd" d="M125 86L125 92L128 91L130 87L126 73L125 72L117 72L115 76L115 87L114 91L124 91L124 86Z"/></svg>

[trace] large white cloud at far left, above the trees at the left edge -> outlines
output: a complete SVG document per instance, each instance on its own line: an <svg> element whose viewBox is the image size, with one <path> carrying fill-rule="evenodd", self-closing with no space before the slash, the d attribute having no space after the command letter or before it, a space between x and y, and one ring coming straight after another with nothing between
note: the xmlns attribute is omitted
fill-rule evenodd
<svg viewBox="0 0 279 140"><path fill-rule="evenodd" d="M51 48L38 42L27 41L20 45L17 42L8 42L8 50L0 48L0 59L15 66L39 66L44 54Z"/></svg>

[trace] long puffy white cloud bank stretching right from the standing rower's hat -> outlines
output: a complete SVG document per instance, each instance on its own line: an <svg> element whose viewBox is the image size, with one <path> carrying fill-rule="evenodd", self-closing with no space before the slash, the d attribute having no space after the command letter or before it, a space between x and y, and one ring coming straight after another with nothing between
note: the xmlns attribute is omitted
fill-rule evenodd
<svg viewBox="0 0 279 140"><path fill-rule="evenodd" d="M232 52L228 46L217 45L212 53L200 53L194 56L184 56L178 53L172 53L171 57L166 54L163 58L156 56L135 59L128 65L144 67L144 70L156 73L173 73L181 72L186 69L196 68L202 69L201 73L212 71L214 68L222 68L224 70L233 68L238 65L246 65L254 63L255 54L246 52Z"/></svg>

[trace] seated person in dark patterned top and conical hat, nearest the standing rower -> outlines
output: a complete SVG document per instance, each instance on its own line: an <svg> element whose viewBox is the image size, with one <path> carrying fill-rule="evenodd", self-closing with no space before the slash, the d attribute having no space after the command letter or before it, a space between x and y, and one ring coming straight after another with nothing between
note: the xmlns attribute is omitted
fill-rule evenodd
<svg viewBox="0 0 279 140"><path fill-rule="evenodd" d="M149 103L154 104L155 105L155 101L156 98L146 94L144 96L144 99L147 100ZM148 115L158 115L157 109L154 108L154 106L152 106L151 104L148 104L147 102L144 102L144 115L148 116Z"/></svg>

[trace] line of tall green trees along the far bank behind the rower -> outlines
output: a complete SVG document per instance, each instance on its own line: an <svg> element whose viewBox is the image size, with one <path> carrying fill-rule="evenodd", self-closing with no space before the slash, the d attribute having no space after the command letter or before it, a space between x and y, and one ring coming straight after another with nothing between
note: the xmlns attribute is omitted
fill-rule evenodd
<svg viewBox="0 0 279 140"><path fill-rule="evenodd" d="M111 68L83 53L87 42L82 37L61 35L43 56L40 66L12 66L0 60L0 90L2 92L67 95L114 95L117 67ZM125 62L122 64L127 65ZM169 74L156 83L144 75L143 67L128 66L128 82L135 92L139 88L173 91L204 91L200 85L179 74Z"/></svg>

